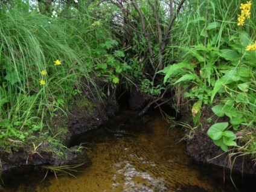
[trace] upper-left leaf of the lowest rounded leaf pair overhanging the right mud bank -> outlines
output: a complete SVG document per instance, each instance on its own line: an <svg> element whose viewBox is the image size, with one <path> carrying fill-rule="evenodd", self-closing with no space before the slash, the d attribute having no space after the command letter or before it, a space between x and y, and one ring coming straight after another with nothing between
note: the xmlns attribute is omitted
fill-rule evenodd
<svg viewBox="0 0 256 192"><path fill-rule="evenodd" d="M220 139L226 127L228 127L228 122L213 124L213 126L208 129L207 135L214 140Z"/></svg>

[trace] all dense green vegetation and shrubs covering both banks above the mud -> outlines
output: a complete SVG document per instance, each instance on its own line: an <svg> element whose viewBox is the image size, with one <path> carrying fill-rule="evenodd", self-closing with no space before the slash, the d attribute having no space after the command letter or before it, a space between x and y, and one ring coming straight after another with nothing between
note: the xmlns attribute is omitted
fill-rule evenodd
<svg viewBox="0 0 256 192"><path fill-rule="evenodd" d="M255 158L255 2L1 1L0 139L51 132L57 111L93 87L136 86L200 127L202 106L227 117L208 135ZM109 91L107 91L107 96ZM54 137L54 135L53 135ZM240 145L238 146L238 143Z"/></svg>

